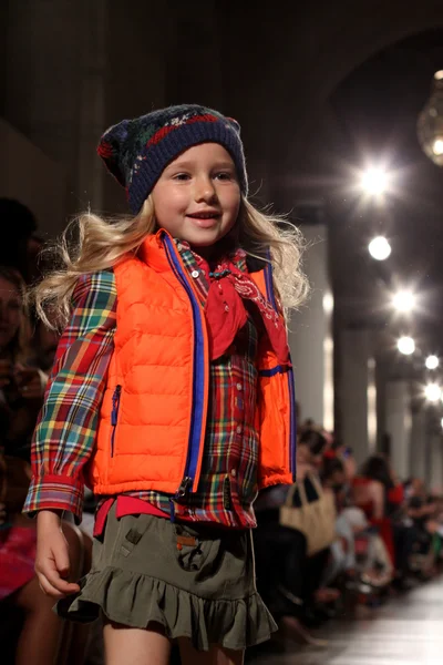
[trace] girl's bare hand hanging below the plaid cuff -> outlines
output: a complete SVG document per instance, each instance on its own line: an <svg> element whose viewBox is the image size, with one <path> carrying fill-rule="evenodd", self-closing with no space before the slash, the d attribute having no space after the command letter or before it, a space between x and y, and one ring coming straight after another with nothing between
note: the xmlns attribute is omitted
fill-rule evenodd
<svg viewBox="0 0 443 665"><path fill-rule="evenodd" d="M37 518L35 573L43 593L53 598L80 591L79 584L68 582L68 542L59 515L51 510L42 510Z"/></svg>

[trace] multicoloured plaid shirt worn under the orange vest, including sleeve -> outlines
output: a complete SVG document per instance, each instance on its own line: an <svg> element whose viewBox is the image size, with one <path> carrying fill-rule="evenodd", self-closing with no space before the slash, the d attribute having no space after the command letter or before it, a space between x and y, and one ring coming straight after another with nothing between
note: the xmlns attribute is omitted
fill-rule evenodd
<svg viewBox="0 0 443 665"><path fill-rule="evenodd" d="M208 265L186 243L177 242L177 248L190 275L199 268L195 284L204 305L209 288ZM243 253L236 255L235 263L239 269L247 269ZM24 512L59 509L81 519L82 469L94 450L113 354L116 296L112 270L83 276L75 288L74 310L59 344L34 432L33 479ZM188 494L186 505L176 505L181 519L229 528L256 525L251 504L257 494L258 464L257 341L257 328L249 317L230 354L210 364L202 474L197 492ZM171 494L152 490L126 494L169 513Z"/></svg>

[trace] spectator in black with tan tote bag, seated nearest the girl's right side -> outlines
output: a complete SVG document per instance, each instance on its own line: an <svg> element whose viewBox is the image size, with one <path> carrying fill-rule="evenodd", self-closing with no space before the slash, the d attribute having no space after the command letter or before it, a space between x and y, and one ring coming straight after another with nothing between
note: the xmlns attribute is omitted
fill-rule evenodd
<svg viewBox="0 0 443 665"><path fill-rule="evenodd" d="M313 429L305 430L298 441L297 484L305 485L308 502L318 499L311 479L318 473L326 444L322 433ZM257 584L280 626L280 635L305 644L326 646L327 643L313 637L308 627L322 623L324 617L320 607L323 603L336 601L340 593L321 586L329 548L309 556L306 535L279 523L279 509L288 491L288 485L268 488L255 503L258 522L254 530ZM293 505L298 508L299 501L296 492Z"/></svg>

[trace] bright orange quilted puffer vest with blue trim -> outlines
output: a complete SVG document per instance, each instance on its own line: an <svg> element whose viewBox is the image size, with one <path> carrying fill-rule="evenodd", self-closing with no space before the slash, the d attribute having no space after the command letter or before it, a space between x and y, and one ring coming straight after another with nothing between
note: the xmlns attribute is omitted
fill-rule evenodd
<svg viewBox="0 0 443 665"><path fill-rule="evenodd" d="M150 236L137 257L114 268L114 352L87 484L96 494L195 492L208 401L205 316L172 237ZM270 266L251 273L275 305ZM292 370L267 344L258 352L259 488L295 477Z"/></svg>

